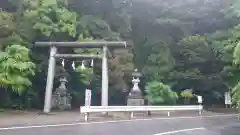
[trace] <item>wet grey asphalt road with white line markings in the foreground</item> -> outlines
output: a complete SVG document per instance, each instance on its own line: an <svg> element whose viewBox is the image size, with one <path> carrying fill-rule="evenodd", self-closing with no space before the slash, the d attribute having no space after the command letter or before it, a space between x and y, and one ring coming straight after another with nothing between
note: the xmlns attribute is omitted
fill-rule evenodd
<svg viewBox="0 0 240 135"><path fill-rule="evenodd" d="M179 117L0 128L0 135L240 135L237 116Z"/></svg>

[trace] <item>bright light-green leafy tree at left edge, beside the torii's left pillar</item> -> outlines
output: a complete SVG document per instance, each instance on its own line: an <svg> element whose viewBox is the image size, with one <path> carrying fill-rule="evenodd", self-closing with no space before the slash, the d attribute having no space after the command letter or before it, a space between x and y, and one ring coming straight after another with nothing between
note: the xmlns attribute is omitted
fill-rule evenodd
<svg viewBox="0 0 240 135"><path fill-rule="evenodd" d="M11 45L0 52L0 84L22 93L31 85L35 64L29 58L29 50L21 45Z"/></svg>

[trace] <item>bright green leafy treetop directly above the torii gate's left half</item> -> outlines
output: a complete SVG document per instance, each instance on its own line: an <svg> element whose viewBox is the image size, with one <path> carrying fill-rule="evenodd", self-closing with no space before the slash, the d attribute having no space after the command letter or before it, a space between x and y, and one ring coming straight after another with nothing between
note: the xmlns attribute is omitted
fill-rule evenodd
<svg viewBox="0 0 240 135"><path fill-rule="evenodd" d="M39 31L48 40L57 40L77 35L77 14L69 11L62 1L58 0L25 0L27 9L24 17L31 20L33 29Z"/></svg>

